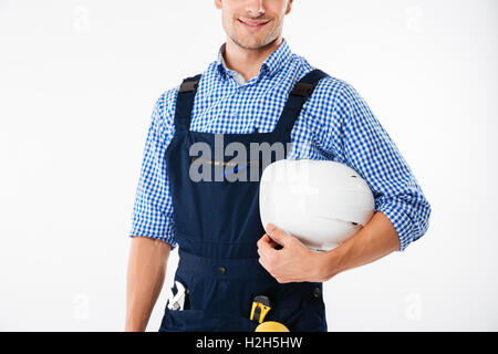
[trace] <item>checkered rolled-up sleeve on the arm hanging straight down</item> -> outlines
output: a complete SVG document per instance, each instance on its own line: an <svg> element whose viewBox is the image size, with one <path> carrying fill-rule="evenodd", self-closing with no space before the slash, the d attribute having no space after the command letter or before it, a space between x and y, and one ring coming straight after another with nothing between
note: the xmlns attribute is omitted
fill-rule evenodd
<svg viewBox="0 0 498 354"><path fill-rule="evenodd" d="M173 200L165 153L174 135L174 107L178 87L156 102L148 127L129 237L149 237L176 247Z"/></svg>

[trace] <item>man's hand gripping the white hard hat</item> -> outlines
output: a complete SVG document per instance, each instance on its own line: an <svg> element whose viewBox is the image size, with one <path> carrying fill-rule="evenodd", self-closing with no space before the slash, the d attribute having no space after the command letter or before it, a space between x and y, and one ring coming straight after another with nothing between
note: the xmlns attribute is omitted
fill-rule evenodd
<svg viewBox="0 0 498 354"><path fill-rule="evenodd" d="M326 280L322 254L272 223L266 231L258 241L259 262L279 283ZM278 244L283 248L277 250Z"/></svg>

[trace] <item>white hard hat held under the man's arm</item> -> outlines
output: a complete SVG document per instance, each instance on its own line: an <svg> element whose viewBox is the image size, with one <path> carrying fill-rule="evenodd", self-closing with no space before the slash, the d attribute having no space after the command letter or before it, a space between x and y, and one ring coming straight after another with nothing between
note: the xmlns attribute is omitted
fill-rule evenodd
<svg viewBox="0 0 498 354"><path fill-rule="evenodd" d="M313 250L331 250L372 218L366 181L344 164L280 159L264 168L259 190L263 227L286 230Z"/></svg>

